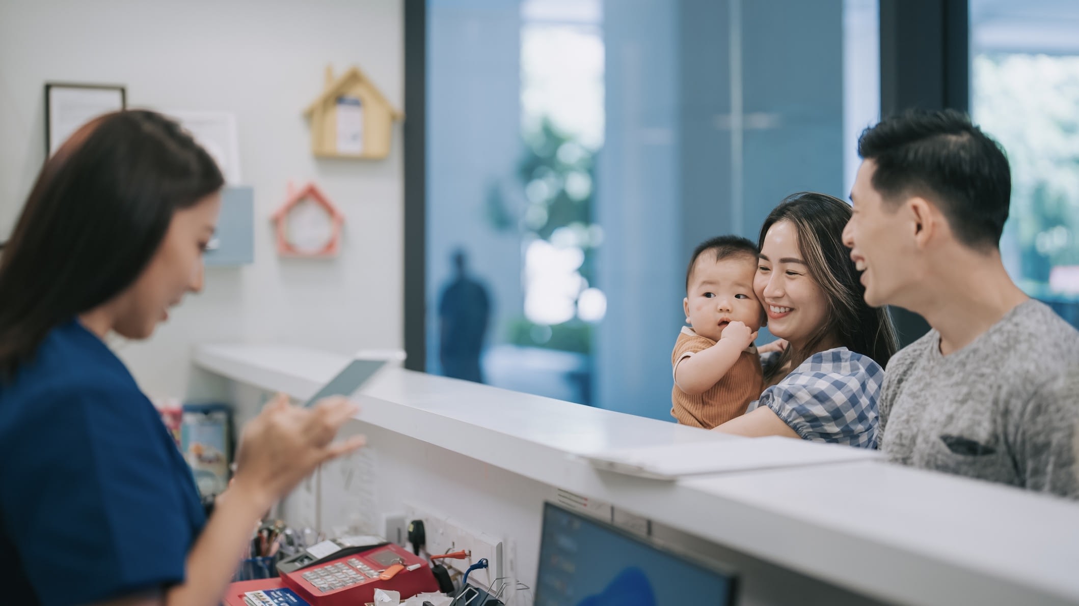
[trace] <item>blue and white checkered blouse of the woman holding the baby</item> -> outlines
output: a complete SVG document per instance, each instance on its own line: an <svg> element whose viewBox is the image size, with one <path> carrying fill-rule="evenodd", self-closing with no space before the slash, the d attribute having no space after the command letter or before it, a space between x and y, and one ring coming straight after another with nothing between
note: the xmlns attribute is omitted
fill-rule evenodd
<svg viewBox="0 0 1079 606"><path fill-rule="evenodd" d="M883 383L880 364L837 347L810 356L749 410L771 409L803 440L872 449Z"/></svg>

